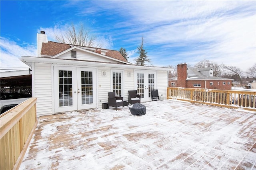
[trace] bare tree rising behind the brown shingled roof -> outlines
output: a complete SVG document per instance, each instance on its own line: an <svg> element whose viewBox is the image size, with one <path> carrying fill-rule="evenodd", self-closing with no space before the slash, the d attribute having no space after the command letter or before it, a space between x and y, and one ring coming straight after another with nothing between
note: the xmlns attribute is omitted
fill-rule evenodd
<svg viewBox="0 0 256 170"><path fill-rule="evenodd" d="M101 45L96 42L96 36L90 35L90 31L84 28L81 24L79 29L76 30L75 25L72 23L68 30L63 34L55 35L56 41L64 44L79 45L85 47L96 47L100 48Z"/></svg>

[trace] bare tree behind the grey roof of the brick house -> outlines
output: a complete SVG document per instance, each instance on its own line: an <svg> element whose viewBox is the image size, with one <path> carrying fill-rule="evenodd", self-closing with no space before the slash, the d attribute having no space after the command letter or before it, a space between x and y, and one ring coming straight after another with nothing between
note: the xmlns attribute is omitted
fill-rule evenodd
<svg viewBox="0 0 256 170"><path fill-rule="evenodd" d="M224 69L224 64L217 64L209 60L203 60L195 64L196 68L208 68L213 70L213 76L221 77Z"/></svg>

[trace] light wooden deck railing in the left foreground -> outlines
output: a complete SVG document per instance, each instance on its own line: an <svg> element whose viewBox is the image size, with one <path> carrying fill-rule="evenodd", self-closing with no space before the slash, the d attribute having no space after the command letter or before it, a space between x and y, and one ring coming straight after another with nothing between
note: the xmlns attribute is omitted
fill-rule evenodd
<svg viewBox="0 0 256 170"><path fill-rule="evenodd" d="M18 169L37 126L36 98L30 98L0 116L1 170Z"/></svg>

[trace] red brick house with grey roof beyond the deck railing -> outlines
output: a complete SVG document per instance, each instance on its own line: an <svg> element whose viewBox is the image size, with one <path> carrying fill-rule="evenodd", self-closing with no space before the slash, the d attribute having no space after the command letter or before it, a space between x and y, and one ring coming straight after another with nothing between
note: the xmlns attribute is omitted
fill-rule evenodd
<svg viewBox="0 0 256 170"><path fill-rule="evenodd" d="M169 87L219 90L231 90L232 87L232 79L213 76L212 68L193 68L181 63L177 66L177 75L169 80Z"/></svg>

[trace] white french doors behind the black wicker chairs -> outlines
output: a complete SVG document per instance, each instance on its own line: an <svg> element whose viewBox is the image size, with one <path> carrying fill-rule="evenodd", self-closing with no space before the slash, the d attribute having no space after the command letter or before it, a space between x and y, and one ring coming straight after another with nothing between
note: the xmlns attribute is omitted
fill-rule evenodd
<svg viewBox="0 0 256 170"><path fill-rule="evenodd" d="M137 94L140 95L141 102L151 100L151 89L156 88L156 72L154 71L135 71L135 82ZM136 87L135 86L135 87Z"/></svg>

